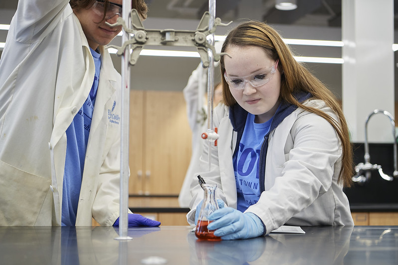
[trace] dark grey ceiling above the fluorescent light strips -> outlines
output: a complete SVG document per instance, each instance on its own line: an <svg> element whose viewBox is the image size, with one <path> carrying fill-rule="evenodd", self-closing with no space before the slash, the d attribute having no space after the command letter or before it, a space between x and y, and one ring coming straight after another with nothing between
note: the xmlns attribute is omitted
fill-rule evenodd
<svg viewBox="0 0 398 265"><path fill-rule="evenodd" d="M1 9L15 9L18 0L2 0ZM149 17L200 19L208 0L145 0ZM341 27L341 0L297 0L297 9L280 11L274 0L216 0L217 16L223 20L250 18L272 24Z"/></svg>

